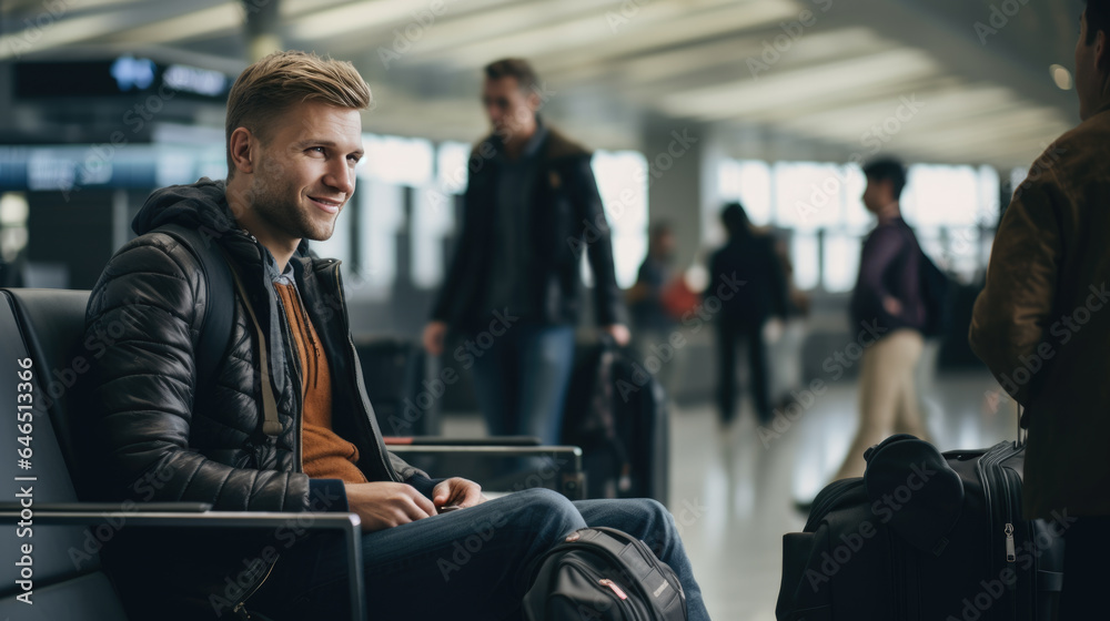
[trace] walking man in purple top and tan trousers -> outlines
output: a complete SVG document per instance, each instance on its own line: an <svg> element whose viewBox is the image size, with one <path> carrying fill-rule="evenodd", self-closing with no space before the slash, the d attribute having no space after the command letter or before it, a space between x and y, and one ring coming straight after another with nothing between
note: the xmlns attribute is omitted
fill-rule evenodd
<svg viewBox="0 0 1110 621"><path fill-rule="evenodd" d="M864 451L892 432L928 439L914 378L925 347L920 248L901 217L906 167L891 159L864 166L864 206L878 218L864 240L851 293L851 334L868 336L859 371L859 427L837 479L861 477Z"/></svg>

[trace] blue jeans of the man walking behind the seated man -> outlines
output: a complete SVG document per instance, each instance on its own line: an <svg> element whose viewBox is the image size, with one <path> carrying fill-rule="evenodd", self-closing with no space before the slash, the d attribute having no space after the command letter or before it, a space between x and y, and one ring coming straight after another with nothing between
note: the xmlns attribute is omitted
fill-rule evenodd
<svg viewBox="0 0 1110 621"><path fill-rule="evenodd" d="M574 327L521 324L474 359L474 393L491 436L559 441L574 365Z"/></svg>

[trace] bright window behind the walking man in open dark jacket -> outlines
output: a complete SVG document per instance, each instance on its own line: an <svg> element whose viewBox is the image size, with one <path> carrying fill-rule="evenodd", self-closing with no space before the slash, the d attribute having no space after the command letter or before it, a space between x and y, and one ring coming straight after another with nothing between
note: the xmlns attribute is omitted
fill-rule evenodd
<svg viewBox="0 0 1110 621"><path fill-rule="evenodd" d="M321 255L343 261L349 295L384 298L398 277L398 242L407 240L411 284L443 283L445 240L456 234L455 205L466 189L471 146L423 139L363 136L366 156L335 235L315 242ZM608 221L617 282L630 286L647 253L647 164L633 151L599 151L594 174ZM588 277L588 269L585 271Z"/></svg>

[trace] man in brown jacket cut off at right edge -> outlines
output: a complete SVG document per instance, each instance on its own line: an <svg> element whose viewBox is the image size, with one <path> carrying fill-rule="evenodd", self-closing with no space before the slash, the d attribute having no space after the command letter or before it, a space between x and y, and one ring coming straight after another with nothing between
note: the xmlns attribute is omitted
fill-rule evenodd
<svg viewBox="0 0 1110 621"><path fill-rule="evenodd" d="M1110 0L1089 0L1076 45L1083 122L1015 192L970 330L972 349L1026 407L1027 517L1066 527L1060 619L1110 610L1100 597L1110 579L1108 45Z"/></svg>

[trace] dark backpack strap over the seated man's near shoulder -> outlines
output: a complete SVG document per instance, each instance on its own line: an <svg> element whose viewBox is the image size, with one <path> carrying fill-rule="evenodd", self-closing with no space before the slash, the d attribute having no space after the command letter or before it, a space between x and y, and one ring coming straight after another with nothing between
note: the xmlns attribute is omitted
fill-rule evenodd
<svg viewBox="0 0 1110 621"><path fill-rule="evenodd" d="M171 235L189 247L204 271L209 303L204 308L201 336L196 342L196 379L198 385L206 386L215 377L215 369L219 368L220 360L228 352L231 342L234 305L219 303L224 299L235 299L231 266L210 235L180 224L163 224L158 231Z"/></svg>

